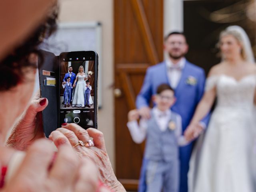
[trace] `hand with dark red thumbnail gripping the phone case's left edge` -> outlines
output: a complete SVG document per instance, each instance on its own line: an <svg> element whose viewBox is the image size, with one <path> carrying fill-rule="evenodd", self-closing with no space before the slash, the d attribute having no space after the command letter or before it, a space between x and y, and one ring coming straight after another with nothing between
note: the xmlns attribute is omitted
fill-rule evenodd
<svg viewBox="0 0 256 192"><path fill-rule="evenodd" d="M6 145L17 150L26 150L38 138L44 137L42 110L48 105L46 98L40 98L40 92L32 99L28 108L14 125Z"/></svg>

